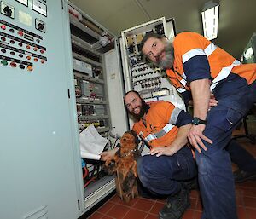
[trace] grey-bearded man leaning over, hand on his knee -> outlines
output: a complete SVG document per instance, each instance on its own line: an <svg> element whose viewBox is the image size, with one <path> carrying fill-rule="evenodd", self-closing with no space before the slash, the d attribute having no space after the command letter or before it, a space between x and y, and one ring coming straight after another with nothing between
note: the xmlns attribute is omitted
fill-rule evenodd
<svg viewBox="0 0 256 219"><path fill-rule="evenodd" d="M237 218L230 156L224 147L256 101L256 64L241 65L195 32L179 33L172 43L149 33L143 37L142 51L166 69L171 83L184 93L185 101L190 98L186 95L192 94L194 118L188 138L196 149L202 218ZM218 105L208 111L211 92Z"/></svg>

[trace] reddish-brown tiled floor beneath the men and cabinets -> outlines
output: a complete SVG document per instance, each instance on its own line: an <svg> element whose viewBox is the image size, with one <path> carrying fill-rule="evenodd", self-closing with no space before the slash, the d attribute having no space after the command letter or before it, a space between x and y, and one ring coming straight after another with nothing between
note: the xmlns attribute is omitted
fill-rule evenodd
<svg viewBox="0 0 256 219"><path fill-rule="evenodd" d="M237 140L256 157L256 145L245 138ZM233 170L236 165L233 164ZM183 215L183 219L200 219L202 206L200 194L193 190L190 193L191 206ZM236 203L239 219L256 219L256 181L236 184ZM144 198L133 199L125 204L115 194L111 199L97 209L90 219L157 219L158 212L165 204L165 200Z"/></svg>

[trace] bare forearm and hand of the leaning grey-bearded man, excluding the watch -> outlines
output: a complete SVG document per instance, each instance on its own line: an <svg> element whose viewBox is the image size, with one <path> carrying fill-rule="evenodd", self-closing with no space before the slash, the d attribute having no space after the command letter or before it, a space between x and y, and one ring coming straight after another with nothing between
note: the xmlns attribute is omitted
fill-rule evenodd
<svg viewBox="0 0 256 219"><path fill-rule="evenodd" d="M210 80L205 78L192 81L190 83L190 88L193 97L194 117L205 120L207 118L210 101ZM191 129L189 130L189 141L199 153L201 153L200 147L207 151L207 147L205 147L201 139L207 141L208 143L212 143L212 140L202 134L205 128L205 124L198 124L192 125Z"/></svg>

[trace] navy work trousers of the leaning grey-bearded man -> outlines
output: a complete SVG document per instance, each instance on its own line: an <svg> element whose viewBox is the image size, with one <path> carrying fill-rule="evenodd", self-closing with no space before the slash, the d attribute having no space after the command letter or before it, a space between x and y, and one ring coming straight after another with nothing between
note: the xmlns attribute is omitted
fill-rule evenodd
<svg viewBox="0 0 256 219"><path fill-rule="evenodd" d="M213 143L203 141L207 151L195 152L198 179L203 201L203 219L236 219L235 184L229 153L224 150L232 130L256 101L256 83L247 85L244 78L230 76L213 89L218 106L207 113L203 134Z"/></svg>

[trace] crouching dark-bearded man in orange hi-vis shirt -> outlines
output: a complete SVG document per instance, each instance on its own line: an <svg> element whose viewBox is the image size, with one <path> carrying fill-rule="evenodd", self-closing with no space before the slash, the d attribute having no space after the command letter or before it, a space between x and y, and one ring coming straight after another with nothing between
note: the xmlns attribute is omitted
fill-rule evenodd
<svg viewBox="0 0 256 219"><path fill-rule="evenodd" d="M140 182L155 196L168 196L160 219L181 218L190 205L189 180L197 173L187 146L191 116L167 101L149 106L134 90L125 94L124 102L135 119L132 130L150 147L149 154L137 160ZM116 150L102 153L102 160L113 156Z"/></svg>

